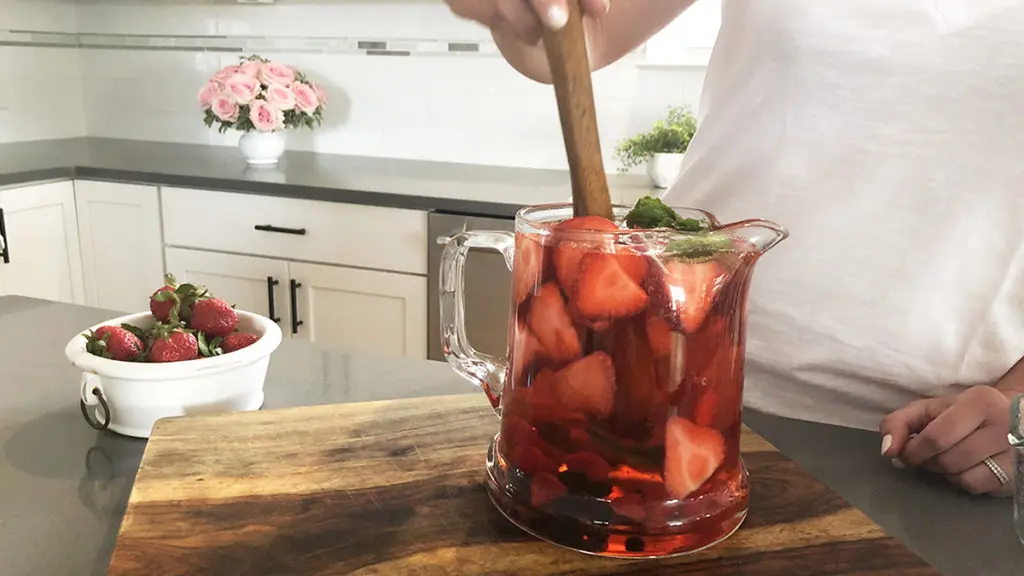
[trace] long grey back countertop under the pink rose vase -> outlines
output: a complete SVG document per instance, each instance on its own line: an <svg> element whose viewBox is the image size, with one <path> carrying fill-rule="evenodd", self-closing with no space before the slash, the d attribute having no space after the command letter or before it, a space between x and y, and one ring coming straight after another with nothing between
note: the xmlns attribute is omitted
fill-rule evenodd
<svg viewBox="0 0 1024 576"><path fill-rule="evenodd" d="M310 152L252 167L234 147L109 138L0 145L0 187L68 177L503 217L570 196L564 170ZM644 176L613 175L609 188L612 201L626 204L657 194Z"/></svg>

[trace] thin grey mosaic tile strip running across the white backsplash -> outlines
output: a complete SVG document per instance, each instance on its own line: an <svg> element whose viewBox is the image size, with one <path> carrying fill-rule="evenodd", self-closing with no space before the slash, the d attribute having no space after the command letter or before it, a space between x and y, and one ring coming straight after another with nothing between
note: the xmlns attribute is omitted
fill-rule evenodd
<svg viewBox="0 0 1024 576"><path fill-rule="evenodd" d="M162 36L74 34L0 29L0 46L190 52L305 52L372 56L496 57L493 41L435 39L313 38L263 36ZM640 48L636 53L641 53Z"/></svg>

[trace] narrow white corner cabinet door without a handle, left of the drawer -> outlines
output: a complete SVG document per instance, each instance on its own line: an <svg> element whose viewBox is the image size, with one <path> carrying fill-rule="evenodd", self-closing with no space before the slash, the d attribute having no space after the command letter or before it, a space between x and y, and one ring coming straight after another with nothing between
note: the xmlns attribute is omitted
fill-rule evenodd
<svg viewBox="0 0 1024 576"><path fill-rule="evenodd" d="M85 303L122 312L148 306L164 283L156 187L75 181Z"/></svg>

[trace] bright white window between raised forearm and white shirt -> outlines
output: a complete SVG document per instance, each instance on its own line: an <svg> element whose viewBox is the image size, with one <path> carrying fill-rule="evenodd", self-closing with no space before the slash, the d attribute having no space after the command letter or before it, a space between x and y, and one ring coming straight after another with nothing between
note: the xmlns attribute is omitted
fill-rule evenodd
<svg viewBox="0 0 1024 576"><path fill-rule="evenodd" d="M707 66L721 25L722 0L697 0L647 41L643 64Z"/></svg>

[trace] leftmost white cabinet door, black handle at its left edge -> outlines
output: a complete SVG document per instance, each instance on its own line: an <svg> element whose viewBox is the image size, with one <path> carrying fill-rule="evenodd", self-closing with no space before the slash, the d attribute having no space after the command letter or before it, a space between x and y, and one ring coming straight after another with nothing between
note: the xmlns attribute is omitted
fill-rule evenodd
<svg viewBox="0 0 1024 576"><path fill-rule="evenodd" d="M0 190L10 262L0 294L84 303L82 257L70 180Z"/></svg>

